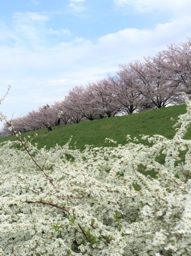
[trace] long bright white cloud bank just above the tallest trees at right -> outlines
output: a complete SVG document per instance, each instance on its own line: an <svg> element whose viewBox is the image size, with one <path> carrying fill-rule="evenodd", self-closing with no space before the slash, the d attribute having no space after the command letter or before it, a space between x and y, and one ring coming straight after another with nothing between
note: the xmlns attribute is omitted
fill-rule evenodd
<svg viewBox="0 0 191 256"><path fill-rule="evenodd" d="M179 41L178 38L187 38L190 33L190 17L186 16L180 19L174 19L169 23L159 23L154 29L137 29L126 28L116 33L107 34L99 38L99 43L106 45L108 48L115 46L137 47L140 45L147 47L151 43L153 46L160 45L161 42L168 44L169 42ZM150 43L151 41L151 43ZM158 42L158 43L157 43ZM119 48L119 47L117 47Z"/></svg>

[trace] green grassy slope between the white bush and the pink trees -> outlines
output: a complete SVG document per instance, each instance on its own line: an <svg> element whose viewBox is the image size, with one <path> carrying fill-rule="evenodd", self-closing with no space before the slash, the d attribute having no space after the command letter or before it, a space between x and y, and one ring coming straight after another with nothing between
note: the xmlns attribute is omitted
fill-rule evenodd
<svg viewBox="0 0 191 256"><path fill-rule="evenodd" d="M126 144L126 135L133 137L140 134L154 135L160 134L167 138L173 138L175 130L172 128L178 116L186 112L185 105L165 107L147 112L141 112L128 116L116 116L102 120L86 121L80 124L70 124L67 126L53 127L51 132L46 129L30 131L22 136L31 135L34 137L32 143L38 143L41 148L46 145L47 149L55 144L64 145L73 136L71 145L76 142L78 149L84 149L85 144L93 144L94 147L111 146L105 142L105 138L112 138L118 144ZM171 121L173 117L175 121ZM38 134L37 137L34 134ZM191 139L191 129L188 130L187 139ZM0 142L15 140L9 136L0 138Z"/></svg>

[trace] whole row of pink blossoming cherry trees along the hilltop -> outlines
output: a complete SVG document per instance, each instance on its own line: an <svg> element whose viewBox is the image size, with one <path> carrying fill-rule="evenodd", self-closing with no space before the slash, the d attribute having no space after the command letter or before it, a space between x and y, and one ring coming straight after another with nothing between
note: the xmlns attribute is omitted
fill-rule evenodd
<svg viewBox="0 0 191 256"><path fill-rule="evenodd" d="M179 104L182 92L191 96L191 39L180 45L171 44L144 62L120 65L114 76L86 87L76 86L62 102L39 107L12 122L16 130L25 132L56 126L58 118L64 125L92 121Z"/></svg>

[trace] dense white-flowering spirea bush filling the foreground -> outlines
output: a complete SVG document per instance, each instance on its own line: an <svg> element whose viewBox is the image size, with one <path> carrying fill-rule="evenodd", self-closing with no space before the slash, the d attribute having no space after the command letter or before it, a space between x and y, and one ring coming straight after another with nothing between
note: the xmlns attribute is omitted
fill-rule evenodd
<svg viewBox="0 0 191 256"><path fill-rule="evenodd" d="M83 152L1 143L0 256L190 256L186 103L174 138L142 136L150 146L129 136L124 146Z"/></svg>

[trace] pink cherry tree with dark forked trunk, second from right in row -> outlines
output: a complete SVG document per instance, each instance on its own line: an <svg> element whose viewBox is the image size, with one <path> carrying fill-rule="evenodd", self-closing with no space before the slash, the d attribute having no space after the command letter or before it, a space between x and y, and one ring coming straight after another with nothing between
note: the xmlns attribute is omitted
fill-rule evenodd
<svg viewBox="0 0 191 256"><path fill-rule="evenodd" d="M180 91L168 79L169 72L161 68L159 61L147 58L144 63L130 63L130 67L131 75L136 79L136 87L146 102L152 102L157 108L180 102Z"/></svg>

